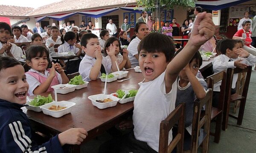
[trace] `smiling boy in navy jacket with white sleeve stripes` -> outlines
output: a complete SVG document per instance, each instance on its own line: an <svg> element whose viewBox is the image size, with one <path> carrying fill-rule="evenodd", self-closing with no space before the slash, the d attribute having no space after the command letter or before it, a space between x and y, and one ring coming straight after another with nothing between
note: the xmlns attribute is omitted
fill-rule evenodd
<svg viewBox="0 0 256 153"><path fill-rule="evenodd" d="M64 144L81 144L87 136L83 128L64 131L41 146L31 140L29 118L20 109L28 89L23 66L15 58L0 58L0 153L61 153Z"/></svg>

